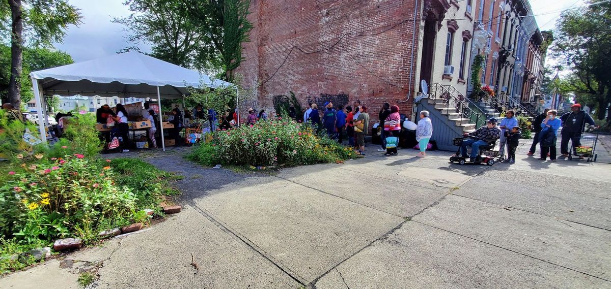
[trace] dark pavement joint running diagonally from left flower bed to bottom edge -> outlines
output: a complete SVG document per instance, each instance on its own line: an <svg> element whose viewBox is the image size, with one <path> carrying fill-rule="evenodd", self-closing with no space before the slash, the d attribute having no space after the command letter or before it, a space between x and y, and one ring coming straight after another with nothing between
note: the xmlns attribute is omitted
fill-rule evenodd
<svg viewBox="0 0 611 289"><path fill-rule="evenodd" d="M236 238L237 240L240 241L240 243L246 245L247 248L257 252L257 254L261 255L263 258L267 259L269 262L274 264L274 266L276 266L278 269L280 269L280 271L284 272L289 277L291 277L291 279L295 280L296 282L298 282L301 285L305 285L307 283L305 282L305 279L303 277L299 276L299 274L295 273L293 270L289 268L285 268L285 266L282 265L281 262L274 259L274 257L268 254L268 252L265 252L265 250L263 250L262 248L259 248L257 244L255 244L253 241L246 238L244 235L240 234L237 230L233 229L228 224L221 223L221 221L216 219L212 213L200 207L196 202L192 202L191 206L196 210L196 212L200 213L200 215L204 216L209 221L211 221L213 224L218 226L221 230L223 230L225 234L228 234L231 237Z"/></svg>

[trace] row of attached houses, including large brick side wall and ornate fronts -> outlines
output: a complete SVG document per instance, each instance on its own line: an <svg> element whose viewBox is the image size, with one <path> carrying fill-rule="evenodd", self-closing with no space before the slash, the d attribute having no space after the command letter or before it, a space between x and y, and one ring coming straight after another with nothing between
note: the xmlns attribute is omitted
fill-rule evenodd
<svg viewBox="0 0 611 289"><path fill-rule="evenodd" d="M415 118L420 81L467 96L474 56L481 83L532 101L544 55L521 0L252 0L250 41L236 72L255 108L295 93L303 106L360 99L372 123L384 102ZM534 80L533 80L534 79Z"/></svg>

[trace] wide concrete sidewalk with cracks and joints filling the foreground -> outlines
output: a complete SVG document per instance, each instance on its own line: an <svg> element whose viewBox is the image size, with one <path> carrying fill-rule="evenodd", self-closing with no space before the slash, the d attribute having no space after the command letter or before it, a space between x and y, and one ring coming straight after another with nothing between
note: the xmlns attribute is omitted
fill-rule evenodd
<svg viewBox="0 0 611 289"><path fill-rule="evenodd" d="M183 212L0 287L77 288L79 266L99 264L93 288L611 288L611 165L541 162L528 146L494 166L368 146L273 176L152 155L185 175Z"/></svg>

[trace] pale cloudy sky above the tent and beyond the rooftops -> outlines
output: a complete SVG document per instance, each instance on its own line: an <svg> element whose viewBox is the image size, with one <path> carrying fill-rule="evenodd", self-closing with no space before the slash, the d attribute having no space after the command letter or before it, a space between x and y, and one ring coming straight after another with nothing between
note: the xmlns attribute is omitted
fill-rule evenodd
<svg viewBox="0 0 611 289"><path fill-rule="evenodd" d="M130 10L123 5L123 0L69 0L69 2L81 9L83 23L78 27L70 26L64 43L55 46L72 55L75 62L112 55L130 46L125 40L127 33L123 30L125 27L111 22L115 17L130 16ZM553 29L562 9L583 3L583 0L530 0L533 15L541 30ZM139 47L145 52L150 49L142 45Z"/></svg>

